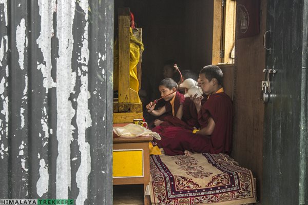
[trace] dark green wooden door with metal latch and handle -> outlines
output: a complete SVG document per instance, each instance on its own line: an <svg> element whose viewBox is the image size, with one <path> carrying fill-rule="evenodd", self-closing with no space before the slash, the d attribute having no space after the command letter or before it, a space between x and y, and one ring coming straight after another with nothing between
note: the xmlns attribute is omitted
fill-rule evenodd
<svg viewBox="0 0 308 205"><path fill-rule="evenodd" d="M267 1L262 205L307 204L307 5Z"/></svg>

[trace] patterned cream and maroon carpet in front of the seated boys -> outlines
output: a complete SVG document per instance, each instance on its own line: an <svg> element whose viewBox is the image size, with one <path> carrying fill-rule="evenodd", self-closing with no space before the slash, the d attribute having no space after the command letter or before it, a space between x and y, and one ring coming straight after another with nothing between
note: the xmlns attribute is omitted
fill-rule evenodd
<svg viewBox="0 0 308 205"><path fill-rule="evenodd" d="M225 154L150 155L152 204L256 202L252 172Z"/></svg>

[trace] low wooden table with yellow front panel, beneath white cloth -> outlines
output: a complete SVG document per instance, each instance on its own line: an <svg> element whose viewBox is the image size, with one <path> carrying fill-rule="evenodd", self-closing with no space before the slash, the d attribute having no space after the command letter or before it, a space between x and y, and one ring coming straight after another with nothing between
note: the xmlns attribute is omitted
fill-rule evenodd
<svg viewBox="0 0 308 205"><path fill-rule="evenodd" d="M113 124L121 127L127 124ZM143 184L144 193L150 182L149 141L152 136L119 137L113 133L113 185ZM150 197L144 197L150 204Z"/></svg>

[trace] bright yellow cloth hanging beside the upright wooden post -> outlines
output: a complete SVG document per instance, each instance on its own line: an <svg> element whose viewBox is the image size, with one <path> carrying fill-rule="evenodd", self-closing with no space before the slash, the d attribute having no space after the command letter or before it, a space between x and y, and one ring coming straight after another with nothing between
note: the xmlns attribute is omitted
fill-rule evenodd
<svg viewBox="0 0 308 205"><path fill-rule="evenodd" d="M140 53L143 51L143 44L136 37L132 35L132 29L130 31L130 59L129 59L129 87L138 93L139 81L137 77L137 64L140 59Z"/></svg>

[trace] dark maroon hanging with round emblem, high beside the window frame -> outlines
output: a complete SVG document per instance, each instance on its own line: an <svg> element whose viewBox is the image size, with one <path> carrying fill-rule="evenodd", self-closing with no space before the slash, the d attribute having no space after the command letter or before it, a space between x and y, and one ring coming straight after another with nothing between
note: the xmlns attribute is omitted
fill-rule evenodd
<svg viewBox="0 0 308 205"><path fill-rule="evenodd" d="M237 38L258 35L260 32L260 1L237 0Z"/></svg>

